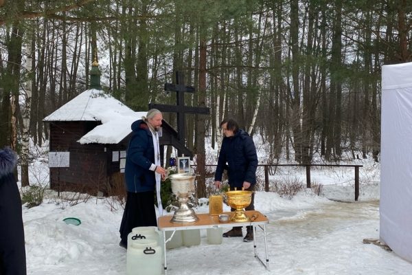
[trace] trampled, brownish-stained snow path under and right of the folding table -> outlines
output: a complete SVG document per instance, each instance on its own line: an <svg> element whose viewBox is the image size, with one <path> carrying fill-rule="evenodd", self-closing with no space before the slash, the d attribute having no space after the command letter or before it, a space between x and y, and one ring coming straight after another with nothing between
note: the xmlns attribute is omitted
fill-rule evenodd
<svg viewBox="0 0 412 275"><path fill-rule="evenodd" d="M203 239L196 247L168 251L168 274L410 274L411 263L363 243L379 237L378 204L328 201L312 210L269 214L271 272L253 258L251 243L232 238L224 239L219 248ZM201 265L198 259L196 264L190 261L193 257L201 258Z"/></svg>

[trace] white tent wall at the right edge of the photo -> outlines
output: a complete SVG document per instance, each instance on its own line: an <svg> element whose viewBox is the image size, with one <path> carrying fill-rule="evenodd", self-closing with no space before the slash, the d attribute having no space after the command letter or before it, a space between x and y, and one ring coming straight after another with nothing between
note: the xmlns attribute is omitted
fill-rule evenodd
<svg viewBox="0 0 412 275"><path fill-rule="evenodd" d="M380 240L412 261L412 63L382 66Z"/></svg>

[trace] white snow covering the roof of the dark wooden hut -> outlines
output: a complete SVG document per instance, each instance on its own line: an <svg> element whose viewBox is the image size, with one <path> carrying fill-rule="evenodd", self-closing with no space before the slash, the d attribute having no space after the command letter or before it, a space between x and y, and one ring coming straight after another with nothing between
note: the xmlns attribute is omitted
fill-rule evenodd
<svg viewBox="0 0 412 275"><path fill-rule="evenodd" d="M132 131L130 124L146 113L133 111L102 90L89 89L48 115L43 121L100 121L101 125L82 136L78 142L117 144Z"/></svg>

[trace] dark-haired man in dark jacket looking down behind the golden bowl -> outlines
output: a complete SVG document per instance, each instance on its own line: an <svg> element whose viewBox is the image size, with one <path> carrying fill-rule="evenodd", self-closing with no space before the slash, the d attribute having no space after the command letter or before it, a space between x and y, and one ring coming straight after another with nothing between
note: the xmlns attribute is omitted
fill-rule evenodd
<svg viewBox="0 0 412 275"><path fill-rule="evenodd" d="M230 190L255 190L256 169L258 168L258 155L255 144L248 133L239 129L238 123L229 118L220 123L223 137L222 148L218 157L218 165L215 172L215 186L221 187L223 170L227 169ZM255 210L255 193L252 193L251 204L246 210ZM232 209L234 211L234 209ZM243 236L241 227L234 227L223 236ZM253 241L252 226L247 226L247 234L244 241Z"/></svg>

